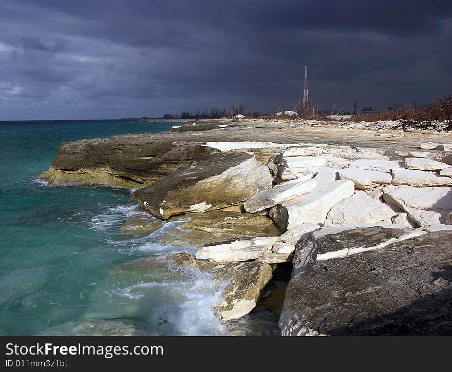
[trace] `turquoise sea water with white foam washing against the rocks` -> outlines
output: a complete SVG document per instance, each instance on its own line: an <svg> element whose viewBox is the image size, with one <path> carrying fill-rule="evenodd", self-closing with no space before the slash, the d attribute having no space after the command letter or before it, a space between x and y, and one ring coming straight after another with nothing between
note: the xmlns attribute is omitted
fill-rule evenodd
<svg viewBox="0 0 452 372"><path fill-rule="evenodd" d="M36 179L63 141L159 132L171 125L0 122L0 335L275 332L274 319L265 314L221 323L213 306L224 283L209 275L167 264L124 267L140 258L194 252L171 243L174 223L145 237L121 234L127 218L142 213L129 198L131 190L49 187ZM170 242L160 243L165 234Z"/></svg>

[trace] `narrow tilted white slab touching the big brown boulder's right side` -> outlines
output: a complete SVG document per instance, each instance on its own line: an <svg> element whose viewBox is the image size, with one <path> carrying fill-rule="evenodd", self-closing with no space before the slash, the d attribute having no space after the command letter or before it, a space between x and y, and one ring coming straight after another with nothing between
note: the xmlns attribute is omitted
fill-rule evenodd
<svg viewBox="0 0 452 372"><path fill-rule="evenodd" d="M243 207L247 212L255 213L306 194L315 187L317 187L317 182L313 179L286 182L272 189L258 192L254 197L244 202Z"/></svg>

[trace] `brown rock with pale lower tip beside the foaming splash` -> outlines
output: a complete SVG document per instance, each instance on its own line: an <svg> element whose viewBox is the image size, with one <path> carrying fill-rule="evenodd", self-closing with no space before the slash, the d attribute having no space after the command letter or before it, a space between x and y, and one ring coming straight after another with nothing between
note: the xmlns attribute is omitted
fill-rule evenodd
<svg viewBox="0 0 452 372"><path fill-rule="evenodd" d="M225 321L247 315L259 300L261 290L272 277L272 268L265 262L217 264L196 261L189 254L177 253L168 257L177 265L187 264L212 273L215 280L228 282L223 290L224 301L216 306Z"/></svg>

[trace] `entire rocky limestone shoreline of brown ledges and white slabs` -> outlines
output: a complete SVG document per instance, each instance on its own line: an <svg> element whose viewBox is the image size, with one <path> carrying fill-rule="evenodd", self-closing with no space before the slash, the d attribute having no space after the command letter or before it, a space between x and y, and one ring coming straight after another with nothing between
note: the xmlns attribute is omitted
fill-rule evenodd
<svg viewBox="0 0 452 372"><path fill-rule="evenodd" d="M452 135L394 126L186 123L62 143L40 179L136 189L125 233L182 222L195 257L168 260L228 283L224 321L292 263L282 335L450 335Z"/></svg>

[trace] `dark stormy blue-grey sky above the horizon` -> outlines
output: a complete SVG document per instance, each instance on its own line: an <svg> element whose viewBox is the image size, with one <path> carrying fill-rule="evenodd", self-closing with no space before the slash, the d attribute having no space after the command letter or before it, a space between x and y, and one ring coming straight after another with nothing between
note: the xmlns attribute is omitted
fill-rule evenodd
<svg viewBox="0 0 452 372"><path fill-rule="evenodd" d="M0 120L320 109L452 91L452 2L0 0Z"/></svg>

